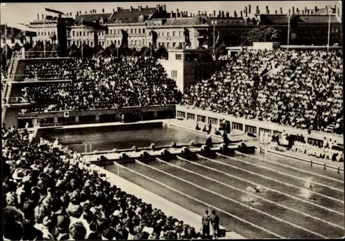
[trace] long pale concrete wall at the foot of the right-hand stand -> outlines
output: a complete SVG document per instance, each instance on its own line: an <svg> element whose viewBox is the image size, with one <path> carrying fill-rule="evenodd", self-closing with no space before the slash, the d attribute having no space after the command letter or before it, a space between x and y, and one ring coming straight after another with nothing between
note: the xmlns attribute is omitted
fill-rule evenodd
<svg viewBox="0 0 345 241"><path fill-rule="evenodd" d="M218 123L220 123L223 118L226 119L226 121L230 121L231 123L231 129L239 129L239 126L242 125L242 131L243 132L251 132L253 134L259 135L261 129L266 129L269 131L275 131L277 130L278 132L283 132L285 130L288 134L302 134L305 138L311 138L315 140L324 140L324 137L326 136L327 138L331 138L332 140L336 140L337 143L339 144L344 144L344 136L342 135L337 135L337 134L329 134L326 132L311 132L311 134L308 134L308 131L306 129L297 129L295 127L288 127L286 125L279 125L275 123L270 123L266 121L257 121L253 119L245 119L245 118L236 118L235 116L227 115L227 114L219 114L215 112L209 112L206 110L202 109L188 109L187 107L181 106L181 105L176 105L176 112L184 112L185 118L188 117L189 114L195 114L195 120L190 120L190 121L195 121L197 122L197 116L205 116L206 118L206 123L208 123L209 118L216 118L218 120ZM177 113L177 117L181 118L179 114ZM201 124L201 121L199 121ZM240 124L240 125L237 125ZM202 127L203 125L199 125ZM253 128L254 127L254 128ZM247 130L246 130L247 128ZM256 131L254 131L256 129Z"/></svg>

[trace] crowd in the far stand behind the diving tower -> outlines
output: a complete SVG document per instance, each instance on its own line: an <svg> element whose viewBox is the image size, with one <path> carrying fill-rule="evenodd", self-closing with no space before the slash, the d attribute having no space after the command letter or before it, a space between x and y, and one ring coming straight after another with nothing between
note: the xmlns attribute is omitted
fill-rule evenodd
<svg viewBox="0 0 345 241"><path fill-rule="evenodd" d="M72 84L24 88L27 101L54 102L29 112L168 105L181 98L175 81L151 57L32 64L27 65L25 78L67 78L71 73L75 75Z"/></svg>

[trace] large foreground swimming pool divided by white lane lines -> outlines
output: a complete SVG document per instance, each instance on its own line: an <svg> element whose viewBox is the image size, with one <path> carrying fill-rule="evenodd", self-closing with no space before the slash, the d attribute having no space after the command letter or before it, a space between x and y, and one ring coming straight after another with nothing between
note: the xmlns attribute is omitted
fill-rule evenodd
<svg viewBox="0 0 345 241"><path fill-rule="evenodd" d="M164 161L169 164L152 160L104 168L195 213L215 209L221 225L246 238L344 235L344 177L336 170L238 152Z"/></svg>

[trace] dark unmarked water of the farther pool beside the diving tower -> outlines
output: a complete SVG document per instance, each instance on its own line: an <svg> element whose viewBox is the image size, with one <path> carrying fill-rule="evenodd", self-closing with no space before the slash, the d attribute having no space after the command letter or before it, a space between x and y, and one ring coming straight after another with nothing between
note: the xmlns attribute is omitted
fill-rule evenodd
<svg viewBox="0 0 345 241"><path fill-rule="evenodd" d="M68 145L78 152L84 152L86 145L88 151L90 151L90 145L92 145L92 151L106 151L129 149L132 146L149 147L151 143L155 143L157 147L170 145L172 142L177 143L177 145L188 144L191 140L194 140L195 143L204 143L207 138L204 134L172 126L163 127L161 125L152 128L136 124L132 127L128 125L124 129L117 125L97 128L55 129L44 132L41 137L52 142L59 138L62 145ZM221 141L221 139L215 140L213 138L213 141Z"/></svg>

